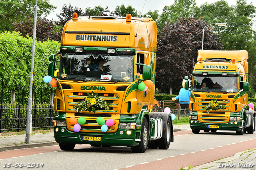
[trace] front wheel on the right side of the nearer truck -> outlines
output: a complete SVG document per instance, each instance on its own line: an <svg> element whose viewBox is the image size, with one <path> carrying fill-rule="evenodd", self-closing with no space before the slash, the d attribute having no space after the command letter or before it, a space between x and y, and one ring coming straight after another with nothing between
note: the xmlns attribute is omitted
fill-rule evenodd
<svg viewBox="0 0 256 170"><path fill-rule="evenodd" d="M142 121L142 128L140 132L140 142L139 145L132 148L132 152L144 153L148 147L148 121L144 117Z"/></svg>

